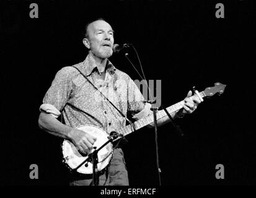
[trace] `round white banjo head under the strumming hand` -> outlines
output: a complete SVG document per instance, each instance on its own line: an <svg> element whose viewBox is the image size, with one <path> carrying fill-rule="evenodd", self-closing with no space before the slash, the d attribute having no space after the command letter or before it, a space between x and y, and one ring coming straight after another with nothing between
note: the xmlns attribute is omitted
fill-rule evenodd
<svg viewBox="0 0 256 198"><path fill-rule="evenodd" d="M94 147L99 149L105 142L108 140L108 134L100 127L92 126L89 124L85 124L79 127L76 127L81 131L87 132L90 135L97 137L97 140L94 142ZM94 150L92 150L94 151ZM68 167L73 170L77 166L79 166L84 160L88 157L84 157L79 153L74 144L69 140L64 140L62 144L62 152L63 152L63 162L68 165ZM104 168L110 163L113 155L112 143L108 143L98 152L98 160L97 168L99 171L104 170ZM82 174L92 174L92 163L88 162L87 166L82 165L77 169L78 173Z"/></svg>

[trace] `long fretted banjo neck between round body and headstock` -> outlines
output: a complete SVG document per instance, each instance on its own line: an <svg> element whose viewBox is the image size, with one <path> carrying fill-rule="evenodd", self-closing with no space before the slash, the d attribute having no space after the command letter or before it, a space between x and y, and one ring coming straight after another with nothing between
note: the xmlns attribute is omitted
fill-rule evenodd
<svg viewBox="0 0 256 198"><path fill-rule="evenodd" d="M199 94L202 98L206 96L204 92L199 92ZM192 98L193 97L198 97L198 96L193 95ZM183 107L184 103L185 103L185 101L182 100L179 103L176 103L172 106L167 107L166 110L168 111L169 114L172 114L175 111L180 110ZM156 113L157 120L164 118L165 116L167 116L167 113L164 110L157 111L157 113ZM118 132L120 134L122 134L123 136L127 136L131 132L141 129L142 127L147 126L148 124L153 123L153 122L154 122L154 117L153 117L153 114L151 114L149 116L144 117L143 119L139 119L138 121L135 121L134 123L131 123L125 127L122 127L120 129L120 131L118 131ZM118 140L118 139L120 139L120 137L118 137L115 140Z"/></svg>

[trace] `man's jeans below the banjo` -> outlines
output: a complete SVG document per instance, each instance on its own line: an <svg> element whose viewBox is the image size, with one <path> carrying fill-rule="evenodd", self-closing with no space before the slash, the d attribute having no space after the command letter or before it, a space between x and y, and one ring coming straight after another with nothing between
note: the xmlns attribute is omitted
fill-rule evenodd
<svg viewBox="0 0 256 198"><path fill-rule="evenodd" d="M91 186L92 176L76 173L71 178L70 186ZM123 150L113 150L110 165L99 176L99 186L128 186L128 172L123 157Z"/></svg>

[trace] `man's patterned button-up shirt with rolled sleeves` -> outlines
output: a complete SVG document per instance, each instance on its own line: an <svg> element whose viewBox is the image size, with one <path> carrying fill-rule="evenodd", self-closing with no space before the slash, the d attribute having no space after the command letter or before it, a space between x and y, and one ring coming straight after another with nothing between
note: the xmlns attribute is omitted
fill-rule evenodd
<svg viewBox="0 0 256 198"><path fill-rule="evenodd" d="M105 80L100 79L94 59L87 58L75 64L84 75L125 116L134 119L148 116L150 106L135 82L107 61ZM101 95L74 67L63 67L57 72L51 87L43 98L40 110L51 113L55 118L63 112L65 124L78 127L92 124L110 133L126 125L126 119Z"/></svg>

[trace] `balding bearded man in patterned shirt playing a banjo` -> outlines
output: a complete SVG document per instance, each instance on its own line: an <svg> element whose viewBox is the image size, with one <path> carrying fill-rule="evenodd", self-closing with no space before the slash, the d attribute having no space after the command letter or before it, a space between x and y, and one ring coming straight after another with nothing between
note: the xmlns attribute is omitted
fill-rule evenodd
<svg viewBox="0 0 256 198"><path fill-rule="evenodd" d="M79 64L74 65L100 90L121 113L130 113L133 119L141 119L152 111L145 104L143 95L136 84L124 72L116 69L108 60L113 53L113 30L104 19L94 20L86 25L83 40L89 53ZM95 137L87 132L75 129L82 124L98 126L108 134L125 126L126 119L109 101L106 101L74 67L63 67L55 76L51 87L40 106L38 123L41 129L55 136L68 139L81 153L92 149ZM191 100L188 92L183 109L173 113L173 118L192 113L200 100ZM63 113L65 124L58 121ZM168 116L157 120L159 125L167 123ZM151 124L153 126L153 124ZM71 185L90 185L92 178L77 173ZM128 173L121 148L113 151L110 165L99 176L99 185L128 185Z"/></svg>

